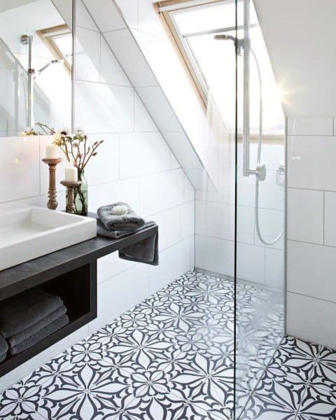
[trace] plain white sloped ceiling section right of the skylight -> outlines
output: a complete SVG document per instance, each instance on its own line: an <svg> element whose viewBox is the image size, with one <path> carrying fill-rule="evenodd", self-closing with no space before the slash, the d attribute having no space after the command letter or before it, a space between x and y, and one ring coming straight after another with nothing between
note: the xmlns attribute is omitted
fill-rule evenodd
<svg viewBox="0 0 336 420"><path fill-rule="evenodd" d="M336 1L254 3L286 116L335 116Z"/></svg>

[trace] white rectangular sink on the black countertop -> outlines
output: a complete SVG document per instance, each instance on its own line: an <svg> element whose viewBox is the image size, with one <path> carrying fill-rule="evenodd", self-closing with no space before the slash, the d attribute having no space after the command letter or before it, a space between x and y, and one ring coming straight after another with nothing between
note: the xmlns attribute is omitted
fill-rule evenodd
<svg viewBox="0 0 336 420"><path fill-rule="evenodd" d="M96 237L96 223L42 207L0 214L0 270Z"/></svg>

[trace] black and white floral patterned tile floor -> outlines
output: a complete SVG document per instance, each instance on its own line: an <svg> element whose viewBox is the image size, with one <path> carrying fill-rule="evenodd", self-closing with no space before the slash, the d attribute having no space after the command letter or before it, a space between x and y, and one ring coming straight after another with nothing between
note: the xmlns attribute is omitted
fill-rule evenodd
<svg viewBox="0 0 336 420"><path fill-rule="evenodd" d="M281 304L237 293L240 419L336 419L336 353L285 337L271 358ZM186 273L4 391L0 419L233 419L233 296L230 278Z"/></svg>

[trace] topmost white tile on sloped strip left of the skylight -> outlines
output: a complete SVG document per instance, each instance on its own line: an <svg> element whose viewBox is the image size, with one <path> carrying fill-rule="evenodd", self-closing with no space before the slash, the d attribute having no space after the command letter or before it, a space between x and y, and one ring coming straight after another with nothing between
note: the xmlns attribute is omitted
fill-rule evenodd
<svg viewBox="0 0 336 420"><path fill-rule="evenodd" d="M115 31L126 27L118 9L111 0L84 0L100 31Z"/></svg>

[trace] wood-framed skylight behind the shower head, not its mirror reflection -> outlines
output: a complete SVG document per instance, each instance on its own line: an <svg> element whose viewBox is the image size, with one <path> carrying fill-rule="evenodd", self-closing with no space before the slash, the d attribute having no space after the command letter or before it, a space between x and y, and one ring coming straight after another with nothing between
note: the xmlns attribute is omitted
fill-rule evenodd
<svg viewBox="0 0 336 420"><path fill-rule="evenodd" d="M235 121L235 45L233 41L216 41L215 34L236 36L235 0L189 0L177 1L165 6L160 2L160 12L164 15L176 43L185 59L188 69L204 99L209 92L214 96L225 123ZM243 2L237 5L238 38L244 37ZM264 133L283 132L283 111L279 99L279 89L274 80L272 66L262 31L258 24L255 8L251 4L251 48L258 59L262 76L262 99L264 103ZM244 54L244 51L241 52ZM259 85L258 72L251 57L251 134L258 133L259 124ZM241 97L243 59L238 58L239 97ZM243 106L239 106L239 119L242 120Z"/></svg>

